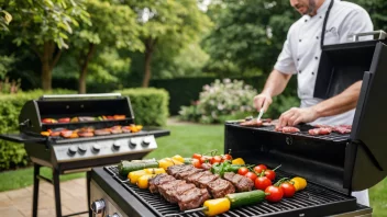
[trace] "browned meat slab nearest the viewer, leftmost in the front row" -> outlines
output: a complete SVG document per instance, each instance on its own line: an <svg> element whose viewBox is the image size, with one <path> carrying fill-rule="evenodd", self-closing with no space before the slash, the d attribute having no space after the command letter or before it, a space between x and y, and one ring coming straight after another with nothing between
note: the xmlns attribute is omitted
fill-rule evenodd
<svg viewBox="0 0 387 217"><path fill-rule="evenodd" d="M210 194L206 189L198 189L195 184L186 183L184 180L176 180L165 173L151 179L150 190L151 187L157 190L169 203L177 203L180 210L198 208L210 198Z"/></svg>

